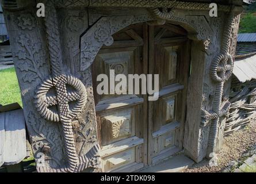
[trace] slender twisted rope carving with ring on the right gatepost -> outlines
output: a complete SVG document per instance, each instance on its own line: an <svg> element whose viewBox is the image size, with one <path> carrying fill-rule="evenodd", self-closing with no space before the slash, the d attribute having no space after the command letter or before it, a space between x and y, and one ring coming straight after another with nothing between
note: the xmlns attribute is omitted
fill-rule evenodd
<svg viewBox="0 0 256 184"><path fill-rule="evenodd" d="M208 140L208 153L216 152L216 142L217 142L217 127L219 119L224 114L228 114L230 109L230 102L226 102L222 109L220 109L221 98L223 95L224 82L232 75L232 70L234 67L234 61L230 53L228 53L228 48L230 44L231 26L234 18L233 11L228 15L226 27L224 28L223 38L221 41L221 52L215 57L211 64L210 75L214 82L216 82L215 97L213 99L212 112L217 115L209 113L212 119L211 128L209 132ZM214 155L212 155L214 156Z"/></svg>

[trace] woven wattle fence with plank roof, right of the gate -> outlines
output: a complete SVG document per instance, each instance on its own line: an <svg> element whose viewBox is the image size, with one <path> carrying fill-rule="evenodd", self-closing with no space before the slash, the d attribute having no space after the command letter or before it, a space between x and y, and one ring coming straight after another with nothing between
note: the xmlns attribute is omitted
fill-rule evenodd
<svg viewBox="0 0 256 184"><path fill-rule="evenodd" d="M256 120L256 53L236 57L224 136Z"/></svg>

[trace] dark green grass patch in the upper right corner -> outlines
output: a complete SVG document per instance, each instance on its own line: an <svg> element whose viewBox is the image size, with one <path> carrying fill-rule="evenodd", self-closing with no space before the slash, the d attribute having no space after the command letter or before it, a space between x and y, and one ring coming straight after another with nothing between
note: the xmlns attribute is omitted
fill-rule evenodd
<svg viewBox="0 0 256 184"><path fill-rule="evenodd" d="M239 33L256 33L256 15L249 13L240 20Z"/></svg>

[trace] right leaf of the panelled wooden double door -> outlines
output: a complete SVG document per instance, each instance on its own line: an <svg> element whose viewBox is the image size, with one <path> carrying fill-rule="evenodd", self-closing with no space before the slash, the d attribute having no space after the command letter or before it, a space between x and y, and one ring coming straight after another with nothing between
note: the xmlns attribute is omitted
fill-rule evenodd
<svg viewBox="0 0 256 184"><path fill-rule="evenodd" d="M159 99L148 103L148 164L182 150L189 43L184 29L150 26L150 74L159 74Z"/></svg>

